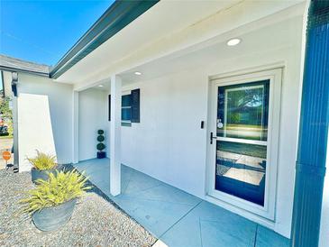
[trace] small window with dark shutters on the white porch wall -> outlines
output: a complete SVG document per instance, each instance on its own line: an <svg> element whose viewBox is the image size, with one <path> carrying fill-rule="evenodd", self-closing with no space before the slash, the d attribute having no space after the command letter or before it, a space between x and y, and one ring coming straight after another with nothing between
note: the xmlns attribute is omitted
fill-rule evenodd
<svg viewBox="0 0 329 247"><path fill-rule="evenodd" d="M108 96L108 121L111 121L111 96ZM134 89L121 98L121 125L140 123L140 89Z"/></svg>

